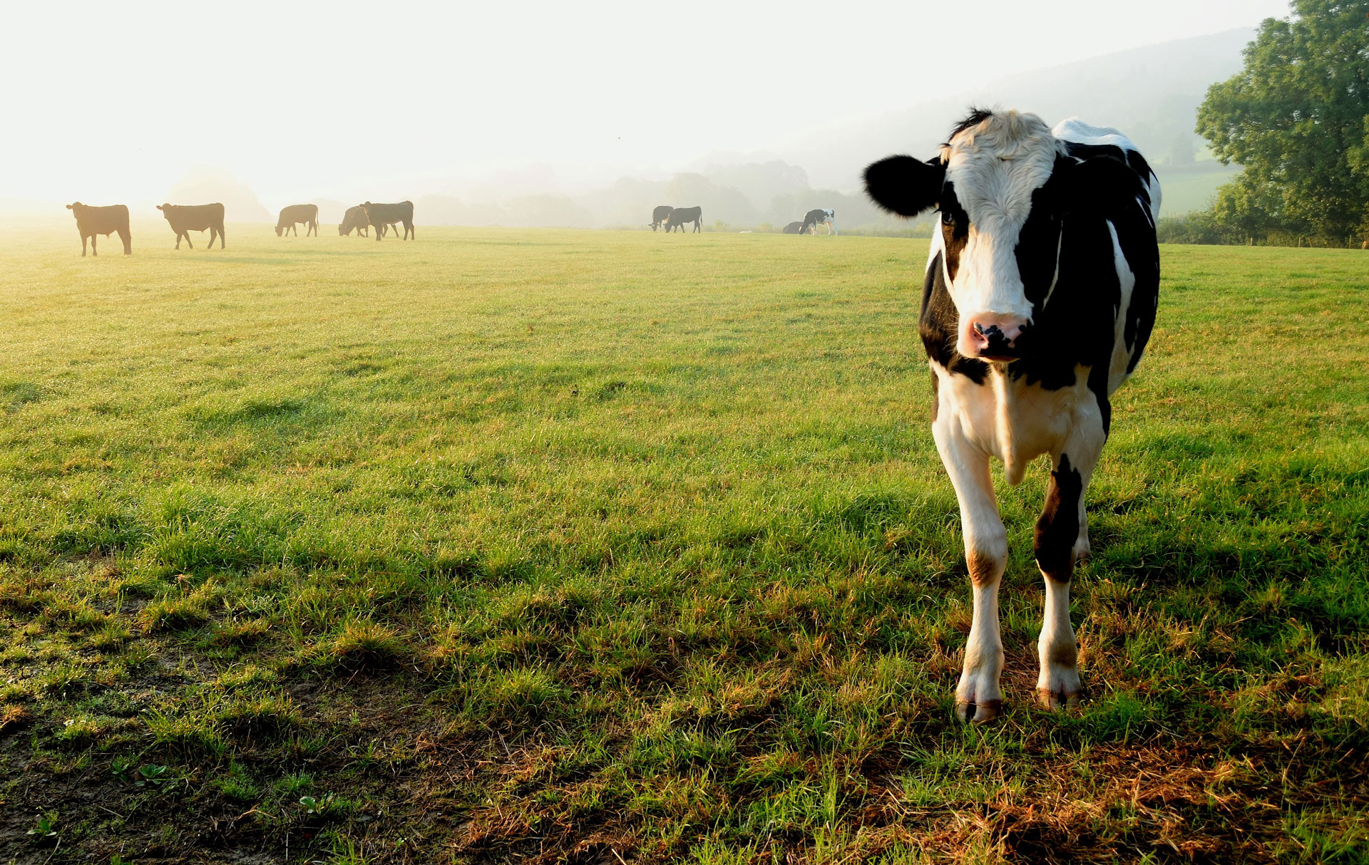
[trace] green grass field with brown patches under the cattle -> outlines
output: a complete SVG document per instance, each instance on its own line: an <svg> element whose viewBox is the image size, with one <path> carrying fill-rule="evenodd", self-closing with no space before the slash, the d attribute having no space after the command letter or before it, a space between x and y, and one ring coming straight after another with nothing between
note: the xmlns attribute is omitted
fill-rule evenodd
<svg viewBox="0 0 1369 865"><path fill-rule="evenodd" d="M1369 861L1365 253L1164 250L971 728L925 241L136 231L0 248L0 862Z"/></svg>

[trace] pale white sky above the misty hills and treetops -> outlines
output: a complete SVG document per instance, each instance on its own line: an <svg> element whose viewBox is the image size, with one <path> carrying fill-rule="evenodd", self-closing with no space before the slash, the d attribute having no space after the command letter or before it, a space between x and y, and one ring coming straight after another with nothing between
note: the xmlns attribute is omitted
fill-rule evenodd
<svg viewBox="0 0 1369 865"><path fill-rule="evenodd" d="M1287 0L15 0L0 197L162 201L204 166L268 208L528 164L583 188L1287 15Z"/></svg>

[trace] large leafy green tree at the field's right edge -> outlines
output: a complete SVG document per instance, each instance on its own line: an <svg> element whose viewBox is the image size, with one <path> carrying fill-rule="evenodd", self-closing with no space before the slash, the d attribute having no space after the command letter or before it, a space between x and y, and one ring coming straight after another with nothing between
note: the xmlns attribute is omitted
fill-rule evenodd
<svg viewBox="0 0 1369 865"><path fill-rule="evenodd" d="M1344 244L1369 237L1369 0L1294 0L1265 19L1246 67L1214 83L1198 134L1244 171L1218 218ZM1358 241L1355 241L1358 245Z"/></svg>

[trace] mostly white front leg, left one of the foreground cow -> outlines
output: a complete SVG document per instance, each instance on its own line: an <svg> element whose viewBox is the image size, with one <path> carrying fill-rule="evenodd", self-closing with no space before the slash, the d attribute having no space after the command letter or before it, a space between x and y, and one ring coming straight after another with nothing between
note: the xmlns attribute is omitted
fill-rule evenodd
<svg viewBox="0 0 1369 865"><path fill-rule="evenodd" d="M960 500L965 564L975 591L975 613L965 642L965 667L956 687L956 714L982 724L998 716L1003 694L1003 641L998 631L998 586L1008 565L1008 532L994 501L988 454L971 443L954 412L942 406L932 437Z"/></svg>

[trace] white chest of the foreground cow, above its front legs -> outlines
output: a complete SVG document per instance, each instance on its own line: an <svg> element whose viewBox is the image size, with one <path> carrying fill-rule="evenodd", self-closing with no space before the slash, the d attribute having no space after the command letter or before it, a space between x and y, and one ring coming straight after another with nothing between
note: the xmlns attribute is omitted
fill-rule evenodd
<svg viewBox="0 0 1369 865"><path fill-rule="evenodd" d="M1080 408L1097 401L1088 390L1087 367L1076 367L1073 386L1058 390L1027 385L997 368L982 385L936 363L931 368L939 379L938 416L956 423L979 450L998 457L1010 485L1021 482L1036 457L1058 454Z"/></svg>

